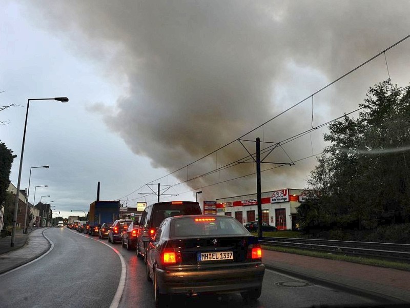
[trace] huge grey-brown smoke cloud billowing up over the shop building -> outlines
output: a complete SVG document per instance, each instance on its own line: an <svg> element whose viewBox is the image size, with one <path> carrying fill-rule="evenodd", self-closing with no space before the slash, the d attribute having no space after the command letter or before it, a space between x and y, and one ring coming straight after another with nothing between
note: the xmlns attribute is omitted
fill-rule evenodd
<svg viewBox="0 0 410 308"><path fill-rule="evenodd" d="M74 54L94 61L107 78L127 82L115 104L90 110L136 155L169 171L242 136L410 29L408 1L71 0L30 2L27 10L36 12L37 25L65 37ZM386 53L393 82L404 86L410 79L409 47L404 42ZM369 86L387 78L380 57L315 95L314 125L353 110ZM288 138L311 127L311 112L311 101L305 102L244 139ZM320 152L323 131L278 147L267 161ZM244 144L254 152L254 143ZM247 154L236 142L175 176L185 181ZM310 159L264 172L262 188L303 188L314 165ZM188 184L203 187L253 169L243 163ZM248 177L207 191L219 198L252 193L255 186L255 178Z"/></svg>

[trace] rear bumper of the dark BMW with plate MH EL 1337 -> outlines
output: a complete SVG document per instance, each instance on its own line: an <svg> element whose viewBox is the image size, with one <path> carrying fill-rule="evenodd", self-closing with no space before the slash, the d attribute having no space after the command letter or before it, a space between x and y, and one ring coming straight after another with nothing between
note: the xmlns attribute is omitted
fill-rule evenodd
<svg viewBox="0 0 410 308"><path fill-rule="evenodd" d="M163 271L156 269L162 294L232 293L262 287L265 266L241 264L223 269Z"/></svg>

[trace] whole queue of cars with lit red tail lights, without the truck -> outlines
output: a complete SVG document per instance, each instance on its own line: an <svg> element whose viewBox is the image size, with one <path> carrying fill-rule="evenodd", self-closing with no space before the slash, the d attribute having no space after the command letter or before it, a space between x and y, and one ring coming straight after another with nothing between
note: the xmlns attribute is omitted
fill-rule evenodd
<svg viewBox="0 0 410 308"><path fill-rule="evenodd" d="M264 265L258 238L235 218L202 215L197 202L154 203L139 222L118 219L93 229L78 221L69 227L81 232L81 226L90 235L135 249L154 285L156 306L173 294L240 293L247 301L261 295Z"/></svg>

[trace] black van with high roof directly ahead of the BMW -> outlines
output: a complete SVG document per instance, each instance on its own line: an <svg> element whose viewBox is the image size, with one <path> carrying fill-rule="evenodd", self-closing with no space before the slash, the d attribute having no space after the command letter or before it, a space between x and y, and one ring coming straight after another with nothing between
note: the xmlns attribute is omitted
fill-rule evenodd
<svg viewBox="0 0 410 308"><path fill-rule="evenodd" d="M173 216L201 214L199 203L195 201L158 202L147 206L139 222L137 256L145 257L147 244L142 242L142 236L149 234L152 238L162 220Z"/></svg>

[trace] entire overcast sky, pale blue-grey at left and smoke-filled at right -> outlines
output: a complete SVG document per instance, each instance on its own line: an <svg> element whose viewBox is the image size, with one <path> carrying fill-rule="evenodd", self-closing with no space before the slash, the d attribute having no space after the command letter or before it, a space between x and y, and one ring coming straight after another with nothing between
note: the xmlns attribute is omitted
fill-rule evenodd
<svg viewBox="0 0 410 308"><path fill-rule="evenodd" d="M135 206L144 185L175 185L161 200L256 192L254 164L205 174L247 156L234 142L410 34L408 1L3 1L0 140L18 156L29 98L21 188L64 216L103 200ZM410 81L410 39L314 96L313 125L349 112L368 87ZM388 73L386 67L388 64ZM309 129L312 100L243 139L279 142ZM319 153L322 128L275 149L270 162ZM244 142L254 151L253 142ZM270 144L262 144L269 146ZM308 158L262 174L262 190L304 188ZM172 176L154 181L169 172ZM265 164L263 169L272 168ZM219 182L224 182L218 184ZM141 189L138 189L142 187ZM163 186L164 188L166 186ZM167 198L167 199L166 199ZM76 214L81 214L77 212Z"/></svg>

